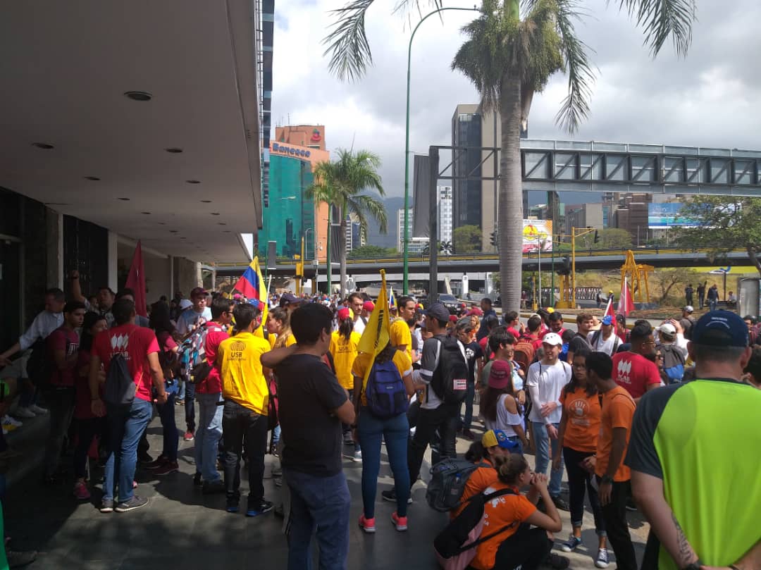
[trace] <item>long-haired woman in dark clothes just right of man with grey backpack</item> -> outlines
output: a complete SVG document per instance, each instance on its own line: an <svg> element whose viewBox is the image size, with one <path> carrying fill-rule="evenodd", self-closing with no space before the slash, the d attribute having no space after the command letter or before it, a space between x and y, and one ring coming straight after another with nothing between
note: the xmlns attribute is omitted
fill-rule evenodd
<svg viewBox="0 0 761 570"><path fill-rule="evenodd" d="M154 475L167 475L180 470L177 463L177 447L180 435L177 433L177 422L174 419L174 398L177 396L177 374L175 364L180 347L174 341L174 323L169 316L169 305L158 301L151 305L151 329L156 333L158 341L158 360L164 371L164 388L167 391L167 402L157 404L158 416L161 418L161 431L164 435L164 448L154 461L145 468Z"/></svg>

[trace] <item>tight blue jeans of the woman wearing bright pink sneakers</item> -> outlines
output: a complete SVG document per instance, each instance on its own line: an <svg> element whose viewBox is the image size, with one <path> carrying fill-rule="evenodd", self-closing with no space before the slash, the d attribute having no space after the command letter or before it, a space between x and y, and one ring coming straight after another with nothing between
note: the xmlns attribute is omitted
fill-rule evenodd
<svg viewBox="0 0 761 570"><path fill-rule="evenodd" d="M388 462L391 464L396 487L396 513L407 516L409 498L409 469L407 467L407 439L409 422L407 415L400 414L389 419L378 419L367 406L362 406L357 425L359 443L362 446L362 503L365 517L375 516L375 495L380 472L380 439L386 440Z"/></svg>

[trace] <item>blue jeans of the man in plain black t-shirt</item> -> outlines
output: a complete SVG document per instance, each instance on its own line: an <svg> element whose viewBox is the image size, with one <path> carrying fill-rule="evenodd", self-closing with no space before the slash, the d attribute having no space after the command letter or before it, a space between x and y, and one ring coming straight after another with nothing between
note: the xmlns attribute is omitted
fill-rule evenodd
<svg viewBox="0 0 761 570"><path fill-rule="evenodd" d="M288 570L311 570L311 541L315 532L320 546L320 570L345 570L352 502L345 475L341 472L316 477L286 468L283 476L291 490Z"/></svg>

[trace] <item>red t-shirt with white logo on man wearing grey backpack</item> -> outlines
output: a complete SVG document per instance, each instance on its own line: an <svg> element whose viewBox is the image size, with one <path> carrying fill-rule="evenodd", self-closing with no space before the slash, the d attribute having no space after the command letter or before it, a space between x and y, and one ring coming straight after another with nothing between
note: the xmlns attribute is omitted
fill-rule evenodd
<svg viewBox="0 0 761 570"><path fill-rule="evenodd" d="M124 324L104 330L95 337L92 355L103 361L106 370L111 363L111 356L121 352L127 361L129 374L135 380L137 390L135 397L151 402L151 367L148 365L148 355L158 352L158 341L151 329L145 326Z"/></svg>

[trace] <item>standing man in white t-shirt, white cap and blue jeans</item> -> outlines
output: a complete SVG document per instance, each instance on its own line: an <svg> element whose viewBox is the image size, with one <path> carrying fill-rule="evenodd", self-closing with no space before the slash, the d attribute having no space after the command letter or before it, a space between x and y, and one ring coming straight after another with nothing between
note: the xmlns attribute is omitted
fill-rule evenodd
<svg viewBox="0 0 761 570"><path fill-rule="evenodd" d="M560 393L565 384L571 381L571 367L567 362L558 360L563 341L556 333L547 333L542 339L544 358L534 362L528 368L526 386L531 395L531 412L529 419L533 425L533 437L536 439L537 465L536 473L546 473L549 465L549 446L552 444L552 457L560 454L558 447L558 428L562 405ZM560 497L560 481L563 476L562 461L558 470L552 470L549 477L549 496L555 506L568 511L568 505Z"/></svg>

